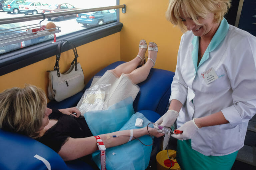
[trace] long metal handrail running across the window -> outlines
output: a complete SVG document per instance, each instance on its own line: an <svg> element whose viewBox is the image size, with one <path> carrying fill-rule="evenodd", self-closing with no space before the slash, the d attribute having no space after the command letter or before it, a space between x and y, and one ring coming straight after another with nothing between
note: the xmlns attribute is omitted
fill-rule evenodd
<svg viewBox="0 0 256 170"><path fill-rule="evenodd" d="M77 9L77 10L72 10L72 11L53 12L53 13L48 13L48 14L40 13L40 14L31 15L31 16L3 18L3 19L0 19L0 25L16 23L16 22L31 21L31 20L39 20L39 19L44 19L44 18L61 17L61 16L66 16L66 15L80 14L80 13L86 13L86 12L102 11L102 10L109 10L109 9L119 9L119 8L122 8L123 13L126 12L126 5L123 4L123 5L114 5L114 6L100 7L100 8Z"/></svg>

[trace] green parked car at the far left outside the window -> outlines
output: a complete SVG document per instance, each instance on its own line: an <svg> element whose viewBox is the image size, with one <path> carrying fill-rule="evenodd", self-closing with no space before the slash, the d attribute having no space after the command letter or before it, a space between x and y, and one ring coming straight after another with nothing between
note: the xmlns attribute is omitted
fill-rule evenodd
<svg viewBox="0 0 256 170"><path fill-rule="evenodd" d="M18 14L19 11L19 5L26 2L25 0L8 0L5 3L3 3L3 11L14 14Z"/></svg>

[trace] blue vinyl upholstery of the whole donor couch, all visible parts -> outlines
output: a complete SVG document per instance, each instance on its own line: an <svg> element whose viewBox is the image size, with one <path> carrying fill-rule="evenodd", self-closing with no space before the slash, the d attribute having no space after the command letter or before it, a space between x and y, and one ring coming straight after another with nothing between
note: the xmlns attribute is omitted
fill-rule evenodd
<svg viewBox="0 0 256 170"><path fill-rule="evenodd" d="M124 62L115 62L99 71L95 76L102 76L107 70L114 69ZM171 94L171 83L174 73L161 69L151 69L148 78L138 84L138 93L133 107L135 112L141 112L151 122L155 122L167 111L168 99ZM84 90L91 85L92 79L85 86ZM84 91L83 90L83 91ZM83 91L60 102L50 101L47 106L50 108L68 108L77 105ZM160 138L154 139L151 160L155 161L155 156L160 150ZM48 146L31 139L29 137L6 132L0 129L0 169L1 170L45 170L46 166L42 161L34 158L37 154L45 158L51 165L52 170L91 170L92 168L80 161L74 160L64 162L63 159Z"/></svg>

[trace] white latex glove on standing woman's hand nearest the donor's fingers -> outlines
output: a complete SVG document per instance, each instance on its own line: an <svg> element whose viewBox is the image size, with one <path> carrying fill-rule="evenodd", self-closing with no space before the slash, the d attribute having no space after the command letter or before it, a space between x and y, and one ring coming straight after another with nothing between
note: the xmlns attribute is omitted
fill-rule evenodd
<svg viewBox="0 0 256 170"><path fill-rule="evenodd" d="M167 126L171 127L177 117L179 116L179 113L175 110L168 110L162 117L160 117L155 124L160 125L162 127ZM157 129L159 133L162 132L157 126L154 125L154 128Z"/></svg>

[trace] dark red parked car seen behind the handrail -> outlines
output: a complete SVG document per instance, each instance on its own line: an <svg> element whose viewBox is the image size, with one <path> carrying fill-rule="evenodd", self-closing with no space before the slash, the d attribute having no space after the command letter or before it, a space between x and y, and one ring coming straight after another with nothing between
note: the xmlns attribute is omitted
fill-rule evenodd
<svg viewBox="0 0 256 170"><path fill-rule="evenodd" d="M80 8L76 8L73 5L63 3L63 4L55 4L55 5L50 5L47 9L43 9L43 13L51 13L51 12L61 12L61 11L70 11L70 10L76 10ZM74 15L67 15L67 16L61 16L61 17L55 17L55 18L47 18L48 20L51 19L57 19L59 21L63 20L64 18L70 18L70 17L76 17L76 14Z"/></svg>

